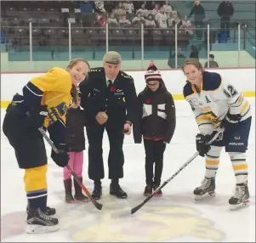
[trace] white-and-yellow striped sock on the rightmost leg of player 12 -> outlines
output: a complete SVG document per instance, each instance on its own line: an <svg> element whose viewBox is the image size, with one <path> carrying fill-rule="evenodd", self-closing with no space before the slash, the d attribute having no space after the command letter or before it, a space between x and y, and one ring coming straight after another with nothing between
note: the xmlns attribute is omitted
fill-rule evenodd
<svg viewBox="0 0 256 243"><path fill-rule="evenodd" d="M245 153L229 152L229 155L236 176L236 184L246 182L248 177L248 164Z"/></svg>

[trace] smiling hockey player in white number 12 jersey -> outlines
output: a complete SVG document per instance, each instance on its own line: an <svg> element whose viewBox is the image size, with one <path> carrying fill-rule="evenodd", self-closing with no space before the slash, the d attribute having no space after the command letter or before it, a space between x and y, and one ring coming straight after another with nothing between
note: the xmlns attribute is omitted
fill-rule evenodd
<svg viewBox="0 0 256 243"><path fill-rule="evenodd" d="M197 59L185 59L181 68L187 79L184 97L191 105L200 131L196 135L196 150L205 156L206 162L202 185L194 190L195 199L214 195L220 151L225 147L236 176L236 193L229 200L230 210L246 206L249 199L246 150L252 120L250 105L243 93L225 77L203 71ZM220 126L225 132L211 146L207 145L211 133Z"/></svg>

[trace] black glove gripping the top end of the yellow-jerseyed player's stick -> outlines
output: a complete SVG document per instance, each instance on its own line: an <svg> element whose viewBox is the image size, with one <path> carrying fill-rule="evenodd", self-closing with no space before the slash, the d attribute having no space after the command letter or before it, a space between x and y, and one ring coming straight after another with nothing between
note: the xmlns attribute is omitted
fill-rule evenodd
<svg viewBox="0 0 256 243"><path fill-rule="evenodd" d="M47 105L41 105L37 108L33 107L27 113L27 116L31 119L31 122L38 128L43 127L43 122L48 116Z"/></svg>

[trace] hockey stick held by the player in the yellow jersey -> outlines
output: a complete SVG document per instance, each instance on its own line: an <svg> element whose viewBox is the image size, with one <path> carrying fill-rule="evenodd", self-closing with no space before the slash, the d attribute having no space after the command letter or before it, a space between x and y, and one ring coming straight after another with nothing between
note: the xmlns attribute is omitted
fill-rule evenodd
<svg viewBox="0 0 256 243"><path fill-rule="evenodd" d="M48 137L48 135L45 133L45 131L43 130L42 127L38 128L39 132L43 135L43 138L45 138L45 140L48 142L48 144L52 147L52 149L54 150L54 152L56 154L59 153L59 150L56 148L56 146L54 145L53 141ZM80 185L80 187L82 188L82 190L86 193L86 195L88 195L88 198L90 201L92 201L92 203L94 204L94 206L101 210L102 209L102 204L100 204L98 201L94 200L94 198L92 197L92 195L89 193L88 189L82 184L82 182L77 178L77 175L75 172L72 171L71 167L69 165L66 165L67 169L71 172L71 175L73 176L73 178L75 178L75 180L77 181L77 184Z"/></svg>

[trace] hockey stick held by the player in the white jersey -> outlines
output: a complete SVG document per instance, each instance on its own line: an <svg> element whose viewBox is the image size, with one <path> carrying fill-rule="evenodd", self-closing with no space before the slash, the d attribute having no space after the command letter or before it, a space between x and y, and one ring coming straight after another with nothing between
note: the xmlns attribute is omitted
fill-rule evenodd
<svg viewBox="0 0 256 243"><path fill-rule="evenodd" d="M220 133L224 132L224 128L220 128L219 130L216 131L216 134L214 134L213 138L208 142L208 144L212 144L213 141L218 138ZM161 186L159 186L156 190L154 190L150 196L148 196L145 201L143 201L142 203L140 203L138 206L135 206L134 208L132 208L131 210L131 214L134 214L134 212L137 212L139 210L140 207L144 206L148 201L151 200L151 198L153 197L153 195L155 194L156 191L158 191L159 189L162 189L164 186L166 186L166 184L168 184L174 177L176 177L179 172L181 172L185 167L187 167L191 161L193 161L194 159L196 159L196 157L199 155L199 152L196 151L196 153L194 155L191 156L191 158L189 158L185 164L179 168L179 170L177 172L174 173L174 175L171 178L168 178L168 180L166 180Z"/></svg>

